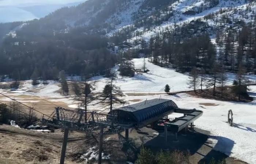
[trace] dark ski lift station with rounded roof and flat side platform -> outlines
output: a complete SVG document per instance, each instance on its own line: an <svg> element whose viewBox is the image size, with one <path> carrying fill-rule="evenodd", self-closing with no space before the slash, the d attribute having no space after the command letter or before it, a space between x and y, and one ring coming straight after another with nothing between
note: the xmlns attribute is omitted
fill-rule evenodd
<svg viewBox="0 0 256 164"><path fill-rule="evenodd" d="M172 113L181 113L183 116L170 121L167 117ZM108 117L126 129L125 136L128 138L129 128L142 128L147 125L151 125L153 129L165 129L177 136L182 129L187 130L189 125L193 129L193 122L202 114L201 110L178 108L170 99L151 99L114 109L108 113Z"/></svg>

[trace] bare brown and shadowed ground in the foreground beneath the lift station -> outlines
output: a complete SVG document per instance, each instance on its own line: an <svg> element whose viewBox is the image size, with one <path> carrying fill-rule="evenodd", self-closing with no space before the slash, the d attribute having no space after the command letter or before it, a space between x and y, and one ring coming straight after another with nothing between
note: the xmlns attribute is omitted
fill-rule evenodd
<svg viewBox="0 0 256 164"><path fill-rule="evenodd" d="M161 149L189 151L191 164L208 163L212 157L217 160L226 159L228 164L244 164L242 161L214 151L211 141L208 140L210 132L205 130L195 129L195 132L179 133L178 142L174 141L174 136L169 133L167 144L164 143L164 136L161 131L144 127L140 130L130 129L129 132L129 144L125 145L120 142L117 135L104 136L103 156L105 159L103 159L103 163L126 164L127 161L134 162L140 146L144 144L154 152ZM0 163L57 164L62 137L61 129L50 133L0 125ZM65 163L97 163L97 151L97 135L70 132Z"/></svg>

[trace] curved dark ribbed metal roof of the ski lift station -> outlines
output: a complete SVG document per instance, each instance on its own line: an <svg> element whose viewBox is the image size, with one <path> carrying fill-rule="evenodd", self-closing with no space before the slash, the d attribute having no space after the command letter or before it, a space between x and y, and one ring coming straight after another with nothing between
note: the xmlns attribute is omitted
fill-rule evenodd
<svg viewBox="0 0 256 164"><path fill-rule="evenodd" d="M117 110L120 112L129 112L134 116L137 123L142 123L155 117L163 117L163 114L173 112L176 108L178 108L178 106L172 100L151 99L137 104L114 109L110 111L109 114L112 114Z"/></svg>

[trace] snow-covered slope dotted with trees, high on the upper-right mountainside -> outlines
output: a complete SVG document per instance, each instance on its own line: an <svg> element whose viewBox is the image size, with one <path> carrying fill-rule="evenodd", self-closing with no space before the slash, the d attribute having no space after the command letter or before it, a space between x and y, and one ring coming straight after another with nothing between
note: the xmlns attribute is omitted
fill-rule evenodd
<svg viewBox="0 0 256 164"><path fill-rule="evenodd" d="M244 9L247 7L252 8L250 13L246 13L244 11ZM134 40L142 38L148 41L151 37L156 36L161 31L166 31L166 29L172 31L177 26L188 24L192 20L202 19L208 14L217 13L219 11L223 11L223 13L216 15L218 19L221 19L222 15L227 15L231 18L233 17L236 19L245 20L245 22L252 22L254 19L252 15L254 15L253 13L256 8L256 3L249 3L249 1L246 0L219 0L218 4L210 5L210 2L207 0L180 0L173 3L168 8L170 8L169 12L172 11L173 16L170 16L167 21L164 21L158 26L152 26L146 29L146 31L143 29L142 32L142 28L135 30L134 34L136 31L140 31L142 34L128 39L128 42L133 43ZM165 15L164 12L162 12L162 14ZM212 27L218 27L221 25L208 19L204 21ZM230 24L226 25L226 28L228 27L230 27ZM214 31L210 32L210 34L215 33Z"/></svg>

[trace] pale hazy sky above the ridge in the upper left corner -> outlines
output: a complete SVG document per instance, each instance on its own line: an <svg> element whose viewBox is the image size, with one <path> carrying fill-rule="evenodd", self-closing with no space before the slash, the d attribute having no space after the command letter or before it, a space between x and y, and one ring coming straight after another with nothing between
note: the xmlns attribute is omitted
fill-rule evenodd
<svg viewBox="0 0 256 164"><path fill-rule="evenodd" d="M86 0L0 0L0 23L44 17L65 5Z"/></svg>

